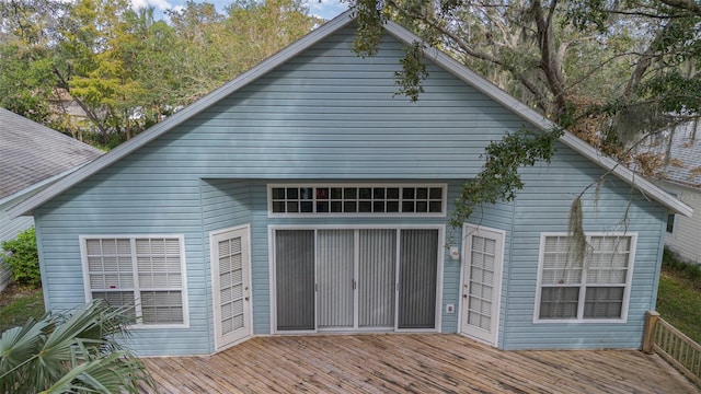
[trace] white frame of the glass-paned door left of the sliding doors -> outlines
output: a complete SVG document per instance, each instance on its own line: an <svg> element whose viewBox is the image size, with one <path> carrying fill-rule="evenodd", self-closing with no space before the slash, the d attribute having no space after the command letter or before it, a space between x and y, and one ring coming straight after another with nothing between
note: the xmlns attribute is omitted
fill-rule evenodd
<svg viewBox="0 0 701 394"><path fill-rule="evenodd" d="M241 237L242 285L243 285L243 327L225 336L221 333L221 299L219 292L218 242ZM209 262L211 271L211 309L215 331L215 351L248 339L252 334L251 298L251 227L249 224L212 231L209 233Z"/></svg>

